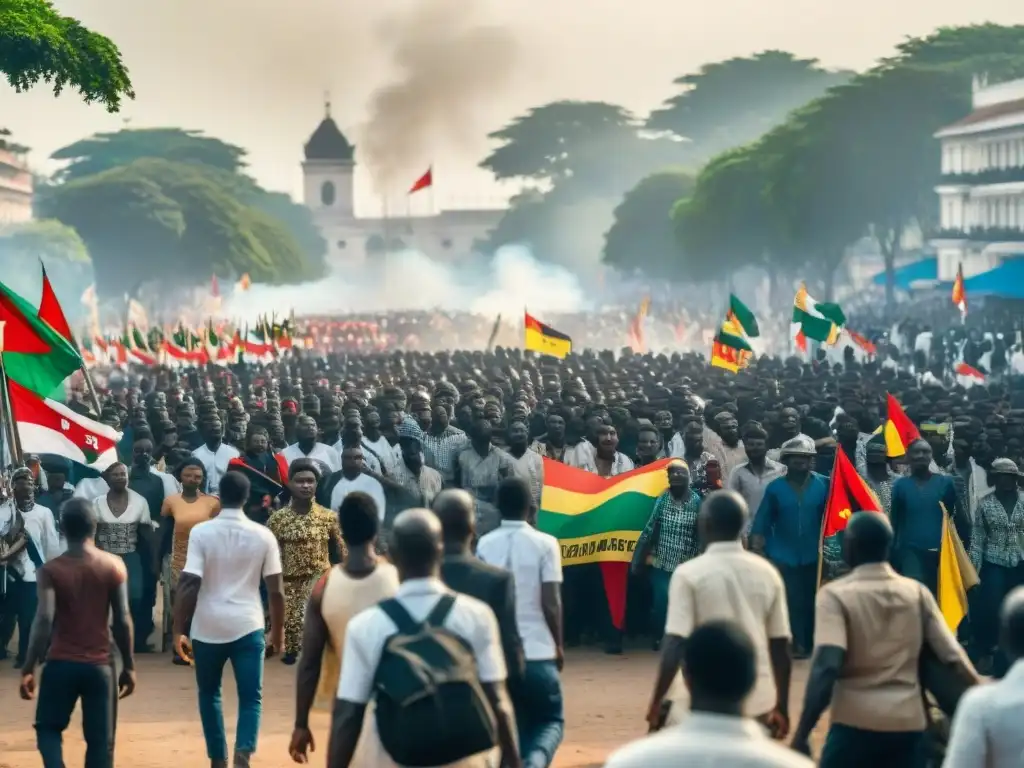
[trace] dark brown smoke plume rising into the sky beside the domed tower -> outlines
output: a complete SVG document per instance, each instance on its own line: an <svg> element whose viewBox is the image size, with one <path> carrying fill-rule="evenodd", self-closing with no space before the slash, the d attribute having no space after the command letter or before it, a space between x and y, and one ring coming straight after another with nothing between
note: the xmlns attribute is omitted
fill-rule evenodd
<svg viewBox="0 0 1024 768"><path fill-rule="evenodd" d="M480 141L477 110L511 80L517 45L510 31L477 23L479 8L425 0L379 27L397 79L371 95L358 142L378 191L432 162L440 148Z"/></svg>

